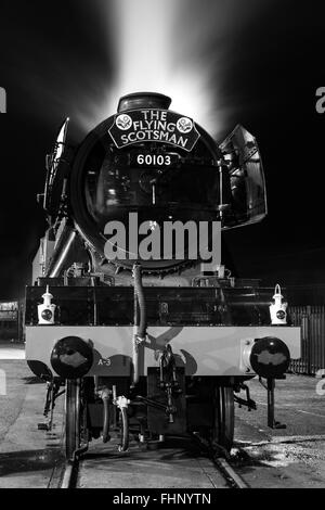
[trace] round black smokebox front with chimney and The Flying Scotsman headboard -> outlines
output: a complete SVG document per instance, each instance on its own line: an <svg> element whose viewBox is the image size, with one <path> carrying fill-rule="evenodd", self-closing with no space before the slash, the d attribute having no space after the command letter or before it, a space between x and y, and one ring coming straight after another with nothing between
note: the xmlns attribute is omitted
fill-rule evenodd
<svg viewBox="0 0 325 510"><path fill-rule="evenodd" d="M123 95L118 112L89 133L74 161L76 229L102 260L125 269L139 262L144 272L159 273L193 264L200 255L200 222L219 219L221 151L194 120L169 110L170 103L156 92ZM147 254L140 247L150 239L155 243Z"/></svg>

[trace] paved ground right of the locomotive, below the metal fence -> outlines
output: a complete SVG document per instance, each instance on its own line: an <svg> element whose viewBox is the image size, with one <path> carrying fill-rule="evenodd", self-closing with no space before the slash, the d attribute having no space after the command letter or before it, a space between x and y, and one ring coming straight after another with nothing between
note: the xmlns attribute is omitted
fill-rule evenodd
<svg viewBox="0 0 325 510"><path fill-rule="evenodd" d="M325 487L325 395L316 393L323 382L290 374L276 382L276 420L287 425L278 430L266 426L266 391L249 382L258 409L236 408L232 454L251 487Z"/></svg>

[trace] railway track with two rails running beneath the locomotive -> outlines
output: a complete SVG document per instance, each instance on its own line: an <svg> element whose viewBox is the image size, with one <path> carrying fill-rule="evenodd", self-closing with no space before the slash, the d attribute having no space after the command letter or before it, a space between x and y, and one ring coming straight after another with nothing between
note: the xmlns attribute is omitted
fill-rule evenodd
<svg viewBox="0 0 325 510"><path fill-rule="evenodd" d="M181 445L180 445L181 443ZM84 456L61 466L50 487L57 488L248 488L223 455L211 455L197 437L174 438L152 450L132 442L120 454L109 447L91 448Z"/></svg>

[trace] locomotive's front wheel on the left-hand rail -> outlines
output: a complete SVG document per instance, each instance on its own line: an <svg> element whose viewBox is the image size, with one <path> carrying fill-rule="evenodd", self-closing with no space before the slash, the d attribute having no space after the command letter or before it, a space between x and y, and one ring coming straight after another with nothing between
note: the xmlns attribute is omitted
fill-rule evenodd
<svg viewBox="0 0 325 510"><path fill-rule="evenodd" d="M65 454L73 460L81 442L81 397L80 379L66 380L65 388Z"/></svg>

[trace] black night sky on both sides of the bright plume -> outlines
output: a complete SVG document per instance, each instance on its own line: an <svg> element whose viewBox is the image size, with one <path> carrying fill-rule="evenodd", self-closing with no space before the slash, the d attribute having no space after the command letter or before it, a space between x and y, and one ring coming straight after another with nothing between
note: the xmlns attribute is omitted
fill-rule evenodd
<svg viewBox="0 0 325 510"><path fill-rule="evenodd" d="M0 115L0 298L20 295L27 281L44 229L36 193L44 155L70 113L68 97L100 94L114 74L103 24L86 3L1 0L8 113ZM325 86L324 34L321 1L274 0L226 40L231 62L219 87L232 113L224 135L240 123L257 137L269 216L224 241L238 275L266 284L325 283L325 114L315 111L315 90Z"/></svg>

